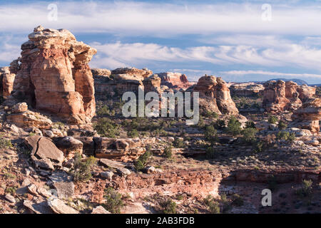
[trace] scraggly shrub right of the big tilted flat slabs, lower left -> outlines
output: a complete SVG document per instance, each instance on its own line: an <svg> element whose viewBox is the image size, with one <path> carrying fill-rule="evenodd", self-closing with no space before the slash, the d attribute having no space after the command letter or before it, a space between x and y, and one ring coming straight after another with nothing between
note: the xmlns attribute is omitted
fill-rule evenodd
<svg viewBox="0 0 321 228"><path fill-rule="evenodd" d="M73 157L73 168L71 169L71 175L75 182L91 179L91 170L97 164L96 158L91 156L85 160L81 159L81 155L77 152Z"/></svg>

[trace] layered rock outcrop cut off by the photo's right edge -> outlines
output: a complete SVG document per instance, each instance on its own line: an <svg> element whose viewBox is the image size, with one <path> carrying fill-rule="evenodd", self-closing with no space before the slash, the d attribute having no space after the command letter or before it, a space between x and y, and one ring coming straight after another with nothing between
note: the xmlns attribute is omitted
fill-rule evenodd
<svg viewBox="0 0 321 228"><path fill-rule="evenodd" d="M311 98L295 110L292 115L295 124L300 128L311 130L312 133L320 131L321 98Z"/></svg>

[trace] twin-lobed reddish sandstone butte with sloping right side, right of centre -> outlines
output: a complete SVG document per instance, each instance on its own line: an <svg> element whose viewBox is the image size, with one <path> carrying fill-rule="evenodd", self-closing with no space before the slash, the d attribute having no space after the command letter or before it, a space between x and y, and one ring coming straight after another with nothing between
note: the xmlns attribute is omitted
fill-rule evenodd
<svg viewBox="0 0 321 228"><path fill-rule="evenodd" d="M200 106L218 114L238 115L230 90L222 78L203 76L193 88L200 94Z"/></svg>

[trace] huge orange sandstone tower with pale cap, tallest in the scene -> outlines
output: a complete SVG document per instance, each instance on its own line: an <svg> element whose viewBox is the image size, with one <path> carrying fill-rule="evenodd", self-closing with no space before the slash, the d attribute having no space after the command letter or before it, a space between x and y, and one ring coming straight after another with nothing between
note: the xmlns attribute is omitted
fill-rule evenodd
<svg viewBox="0 0 321 228"><path fill-rule="evenodd" d="M89 123L96 112L88 66L96 49L76 41L66 29L34 28L21 46L14 98L54 113L69 123Z"/></svg>

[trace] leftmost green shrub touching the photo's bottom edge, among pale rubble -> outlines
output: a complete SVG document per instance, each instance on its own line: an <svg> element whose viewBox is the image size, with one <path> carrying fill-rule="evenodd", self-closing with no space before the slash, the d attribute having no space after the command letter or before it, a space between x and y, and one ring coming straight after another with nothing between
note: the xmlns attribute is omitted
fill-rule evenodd
<svg viewBox="0 0 321 228"><path fill-rule="evenodd" d="M111 212L113 214L119 214L121 213L121 207L123 207L123 197L120 193L116 192L116 190L113 190L112 187L108 187L105 190L104 198L106 199L106 202L103 204L103 207L105 207L108 212Z"/></svg>

